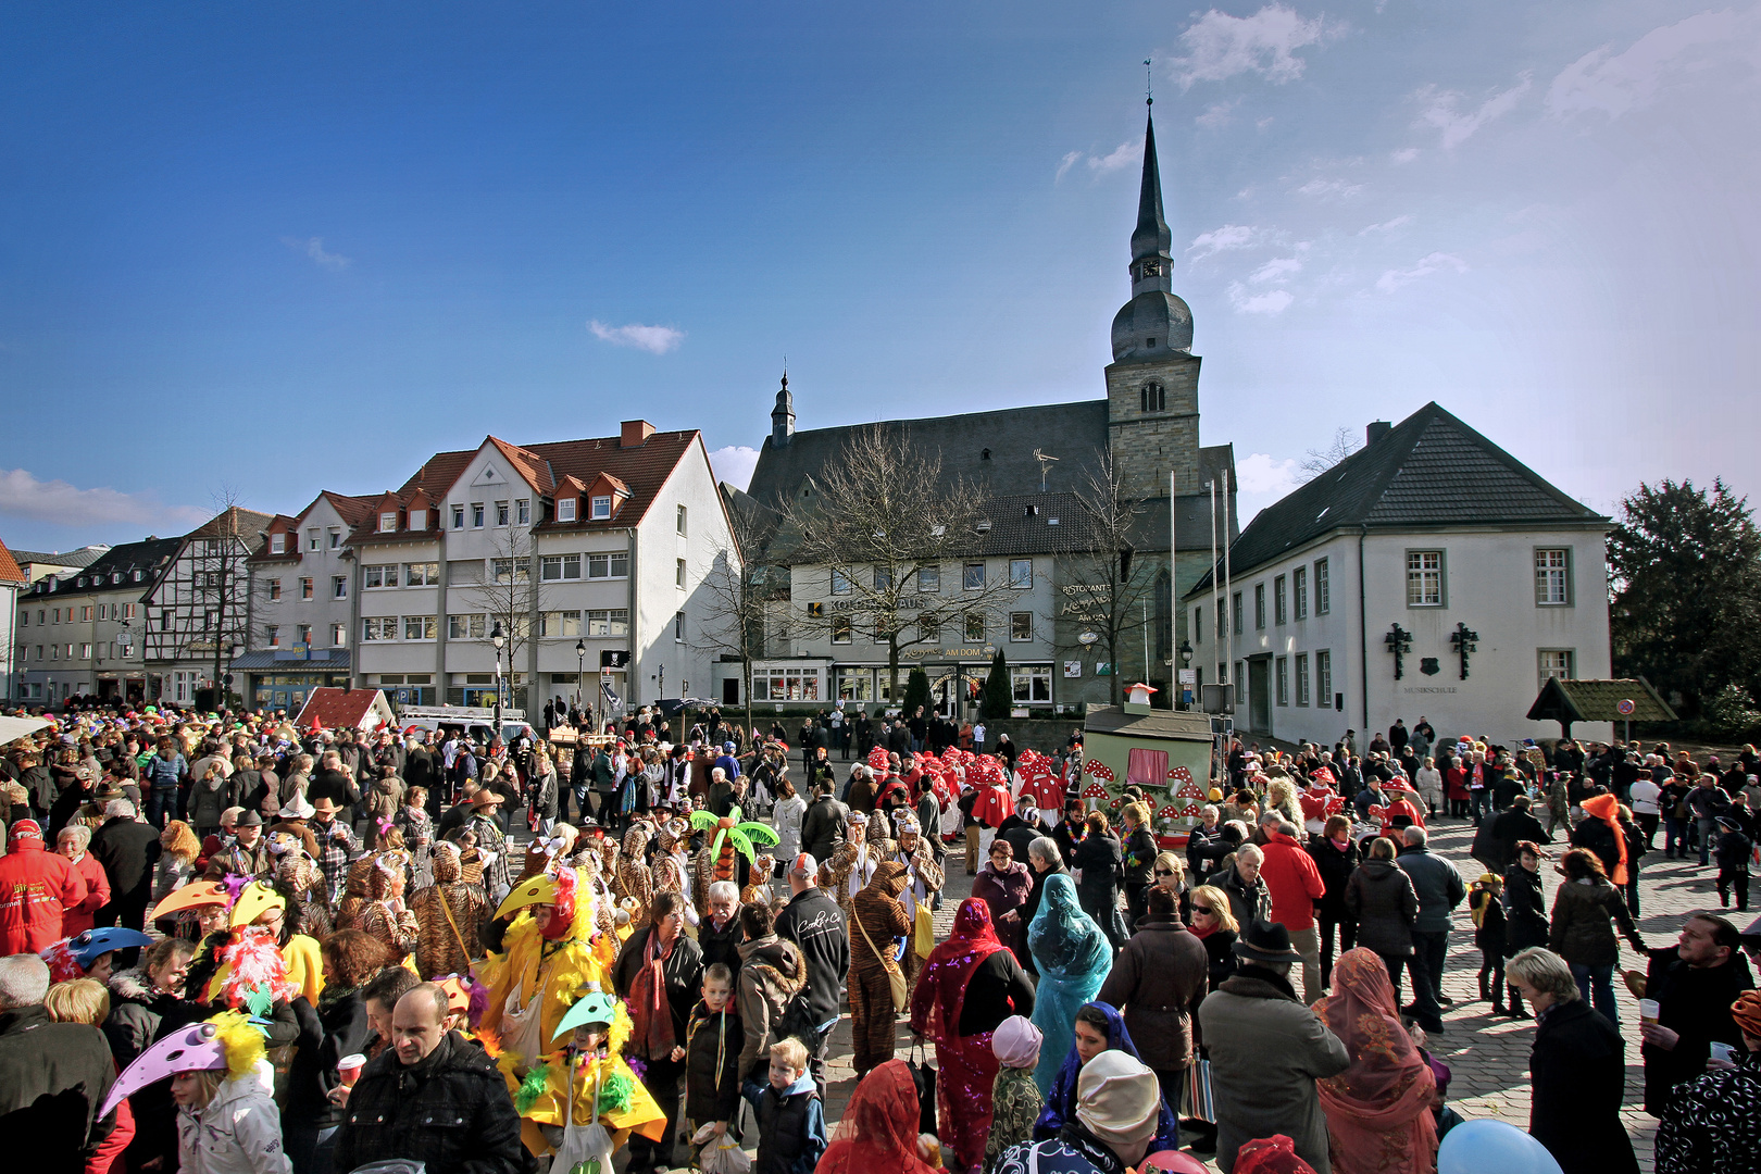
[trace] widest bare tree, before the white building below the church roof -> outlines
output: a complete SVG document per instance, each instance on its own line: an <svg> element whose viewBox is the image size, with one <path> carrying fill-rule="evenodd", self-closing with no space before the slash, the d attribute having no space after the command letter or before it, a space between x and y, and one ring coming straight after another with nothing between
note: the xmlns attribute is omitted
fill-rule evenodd
<svg viewBox="0 0 1761 1174"><path fill-rule="evenodd" d="M984 563L990 521L977 486L944 481L940 451L903 429L851 433L838 459L782 505L791 625L835 644L884 644L888 695L898 699L902 649L944 634L991 642L991 611L1014 595L1007 569Z"/></svg>

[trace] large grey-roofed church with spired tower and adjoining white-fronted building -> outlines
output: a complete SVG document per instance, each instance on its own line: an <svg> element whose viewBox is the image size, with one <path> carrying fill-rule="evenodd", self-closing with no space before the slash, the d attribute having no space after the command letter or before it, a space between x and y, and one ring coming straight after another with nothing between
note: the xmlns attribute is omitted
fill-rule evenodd
<svg viewBox="0 0 1761 1174"><path fill-rule="evenodd" d="M1113 317L1104 398L798 431L787 380L777 394L771 433L748 486L750 496L773 512L810 493L815 479L842 461L852 437L866 428L879 428L891 440L909 435L910 444L940 456L946 482L962 481L984 491L990 517L970 549L925 572L940 600L958 597L969 576L984 583L1002 576L1021 590L970 623L939 627L937 639L910 649L944 711L970 697L969 683L983 679L998 648L1011 665L1014 701L1027 709L1106 702L1118 676L1159 681L1164 697L1173 693L1175 660L1187 635L1175 600L1210 567L1212 542L1227 540L1236 482L1231 445L1199 444L1201 359L1192 354L1192 312L1173 292L1171 243L1152 120L1145 127L1138 224L1131 236L1131 299ZM1094 549L1079 495L1108 463L1138 510L1124 576L1138 583L1129 593L1134 620L1115 649L1095 639L1097 584L1092 574L1074 570L1079 560L1072 558ZM787 535L771 549L777 561L791 561ZM787 595L794 611L835 609L836 586L829 567L789 565ZM928 611L942 613L946 605L937 602ZM902 614L898 621L909 618ZM757 706L893 701L884 695L886 649L865 639L861 618L852 630L826 634L819 625L821 634L810 639L801 639L791 625L780 628L778 637L785 639L768 642L754 674ZM969 634L972 639L965 639Z"/></svg>

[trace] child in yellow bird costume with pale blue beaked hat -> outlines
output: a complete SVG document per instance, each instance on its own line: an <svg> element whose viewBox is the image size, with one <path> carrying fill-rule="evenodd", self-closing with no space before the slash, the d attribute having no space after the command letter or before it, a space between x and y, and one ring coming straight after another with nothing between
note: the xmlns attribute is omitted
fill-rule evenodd
<svg viewBox="0 0 1761 1174"><path fill-rule="evenodd" d="M519 1139L534 1156L555 1155L555 1174L611 1174L611 1155L630 1134L666 1135L666 1112L623 1060L630 1014L593 987L569 1009L556 1037L569 1042L514 1090ZM599 1170L592 1170L595 1160Z"/></svg>

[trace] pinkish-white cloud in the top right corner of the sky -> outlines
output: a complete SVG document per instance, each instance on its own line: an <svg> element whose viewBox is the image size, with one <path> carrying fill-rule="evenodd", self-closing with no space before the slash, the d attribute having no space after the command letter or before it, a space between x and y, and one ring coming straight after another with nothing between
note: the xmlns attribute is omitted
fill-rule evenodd
<svg viewBox="0 0 1761 1174"><path fill-rule="evenodd" d="M1610 56L1610 46L1590 49L1567 65L1546 93L1546 107L1566 118L1603 111L1620 118L1650 106L1657 93L1691 74L1724 60L1757 63L1757 12L1698 12L1675 25L1654 28L1625 53Z"/></svg>

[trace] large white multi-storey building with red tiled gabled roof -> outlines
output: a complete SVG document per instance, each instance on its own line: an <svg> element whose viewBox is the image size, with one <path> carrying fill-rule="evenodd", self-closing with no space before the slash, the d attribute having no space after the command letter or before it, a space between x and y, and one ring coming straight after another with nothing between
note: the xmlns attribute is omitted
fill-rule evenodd
<svg viewBox="0 0 1761 1174"><path fill-rule="evenodd" d="M616 437L437 452L372 502L356 560L354 683L396 704L546 697L595 711L710 686L704 586L733 535L703 435L625 421ZM493 635L500 628L500 657Z"/></svg>

